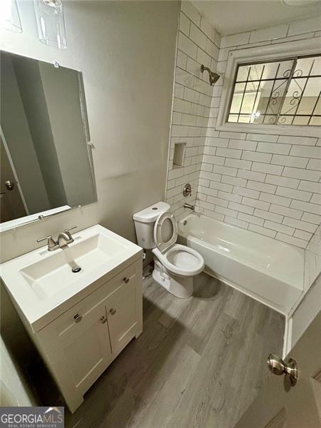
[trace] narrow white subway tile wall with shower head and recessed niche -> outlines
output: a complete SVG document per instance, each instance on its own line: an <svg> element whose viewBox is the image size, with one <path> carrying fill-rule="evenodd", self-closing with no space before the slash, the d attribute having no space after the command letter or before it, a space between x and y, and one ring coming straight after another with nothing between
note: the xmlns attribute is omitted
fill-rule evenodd
<svg viewBox="0 0 321 428"><path fill-rule="evenodd" d="M183 208L185 202L195 205L199 182L201 186L208 188L209 198L217 196L218 193L217 190L209 188L210 180L220 180L220 172L215 173L212 168L212 158L214 157L212 155L215 149L211 151L210 147L206 148L206 156L209 156L210 175L206 175L206 166L204 166L203 175L200 179L200 168L208 127L210 126L211 136L218 136L218 132L213 133L212 131L215 123L210 122L210 119L213 117L213 111L215 111L215 105L211 105L212 100L219 101L219 98L213 98L213 86L210 86L208 81L208 73L202 74L200 66L204 64L216 70L219 49L220 36L200 16L192 4L188 1L182 1L166 192L166 202L171 205L171 209L177 218L186 215L186 209ZM182 167L173 165L175 143L186 143ZM228 168L225 169L228 170ZM185 183L192 185L192 195L188 198L183 196ZM199 203L204 202L204 208L206 209L208 206L210 210L213 203L206 200L202 201L202 198L206 198L206 195L200 196ZM228 205L228 201L225 202ZM220 220L223 220L223 215Z"/></svg>

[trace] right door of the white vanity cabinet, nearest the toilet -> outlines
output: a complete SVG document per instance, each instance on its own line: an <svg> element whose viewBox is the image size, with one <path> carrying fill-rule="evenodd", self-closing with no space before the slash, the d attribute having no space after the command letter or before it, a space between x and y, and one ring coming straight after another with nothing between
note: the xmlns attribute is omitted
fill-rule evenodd
<svg viewBox="0 0 321 428"><path fill-rule="evenodd" d="M138 322L136 287L137 279L131 279L118 287L107 299L106 310L113 355L120 352L136 335Z"/></svg>

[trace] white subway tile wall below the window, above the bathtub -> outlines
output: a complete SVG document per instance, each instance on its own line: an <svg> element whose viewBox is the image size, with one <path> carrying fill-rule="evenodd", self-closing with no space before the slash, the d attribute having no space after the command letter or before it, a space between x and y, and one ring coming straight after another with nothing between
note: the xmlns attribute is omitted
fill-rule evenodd
<svg viewBox="0 0 321 428"><path fill-rule="evenodd" d="M297 141L292 144L287 137L287 143L279 142L282 136L272 143L260 141L260 136L255 141L251 134L243 136L243 140L224 134L205 140L200 178L207 181L198 189L199 196L205 195L205 200L196 201L198 213L205 213L206 208L207 213L212 210L224 215L226 223L305 248L320 223L321 161L317 159L317 139L313 141L315 146L297 146ZM301 158L301 153L291 155L293 147L316 151L311 158ZM314 169L307 169L307 165ZM208 190L212 192L210 196ZM215 195L213 190L224 192L224 197ZM234 194L237 200L230 197Z"/></svg>

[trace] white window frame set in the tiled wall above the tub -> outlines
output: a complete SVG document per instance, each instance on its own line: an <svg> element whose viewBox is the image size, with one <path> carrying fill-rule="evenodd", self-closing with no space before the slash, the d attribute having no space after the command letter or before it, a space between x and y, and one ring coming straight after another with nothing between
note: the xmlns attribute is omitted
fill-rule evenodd
<svg viewBox="0 0 321 428"><path fill-rule="evenodd" d="M265 133L285 136L320 137L320 126L307 125L267 125L262 123L233 123L228 122L230 103L233 96L236 71L239 65L245 63L271 62L278 59L289 59L297 56L320 55L321 37L300 41L284 42L265 46L255 46L230 51L226 64L223 90L218 108L218 118L215 128L218 131Z"/></svg>

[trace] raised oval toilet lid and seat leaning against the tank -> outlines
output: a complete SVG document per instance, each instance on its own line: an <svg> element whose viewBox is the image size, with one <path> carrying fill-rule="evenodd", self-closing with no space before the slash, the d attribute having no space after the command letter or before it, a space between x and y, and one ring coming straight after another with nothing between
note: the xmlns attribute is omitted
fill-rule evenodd
<svg viewBox="0 0 321 428"><path fill-rule="evenodd" d="M175 215L170 211L161 214L156 220L154 240L161 253L164 253L171 245L175 244L177 240L177 224Z"/></svg>

